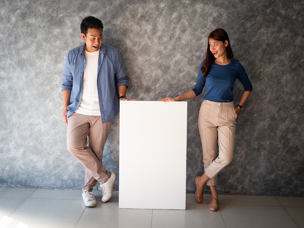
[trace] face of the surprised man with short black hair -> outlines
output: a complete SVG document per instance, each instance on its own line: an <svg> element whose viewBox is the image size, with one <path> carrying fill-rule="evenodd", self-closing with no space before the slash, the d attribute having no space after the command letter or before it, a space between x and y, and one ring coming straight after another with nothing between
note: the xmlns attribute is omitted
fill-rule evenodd
<svg viewBox="0 0 304 228"><path fill-rule="evenodd" d="M88 28L86 35L81 33L81 37L85 42L85 50L88 52L98 51L102 43L102 29Z"/></svg>

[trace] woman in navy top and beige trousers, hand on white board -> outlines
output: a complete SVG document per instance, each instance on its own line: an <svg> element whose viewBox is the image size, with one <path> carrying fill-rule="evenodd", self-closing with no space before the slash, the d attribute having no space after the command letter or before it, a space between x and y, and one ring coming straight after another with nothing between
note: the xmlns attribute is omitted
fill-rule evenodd
<svg viewBox="0 0 304 228"><path fill-rule="evenodd" d="M232 90L236 79L243 84L244 92L239 104L235 107ZM206 57L200 65L194 89L178 97L164 98L161 101L182 101L194 98L202 93L204 86L206 86L206 93L199 114L204 173L194 179L195 196L198 203L203 203L203 188L207 184L211 190L211 202L208 208L210 211L218 211L217 174L232 160L236 117L253 89L245 69L238 60L234 59L228 34L223 29L216 29L208 36Z"/></svg>

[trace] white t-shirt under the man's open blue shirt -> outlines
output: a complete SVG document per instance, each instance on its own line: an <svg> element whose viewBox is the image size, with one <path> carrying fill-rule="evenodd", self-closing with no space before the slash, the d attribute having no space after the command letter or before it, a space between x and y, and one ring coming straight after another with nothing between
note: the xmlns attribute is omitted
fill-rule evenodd
<svg viewBox="0 0 304 228"><path fill-rule="evenodd" d="M84 85L80 105L75 111L84 115L101 115L97 90L97 67L99 50L84 50L86 65L84 68Z"/></svg>

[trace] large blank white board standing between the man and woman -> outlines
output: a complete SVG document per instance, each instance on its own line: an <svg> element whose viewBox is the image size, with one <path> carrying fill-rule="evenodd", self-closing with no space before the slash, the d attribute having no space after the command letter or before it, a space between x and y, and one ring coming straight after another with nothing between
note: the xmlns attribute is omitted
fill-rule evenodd
<svg viewBox="0 0 304 228"><path fill-rule="evenodd" d="M186 209L187 102L120 101L119 208Z"/></svg>

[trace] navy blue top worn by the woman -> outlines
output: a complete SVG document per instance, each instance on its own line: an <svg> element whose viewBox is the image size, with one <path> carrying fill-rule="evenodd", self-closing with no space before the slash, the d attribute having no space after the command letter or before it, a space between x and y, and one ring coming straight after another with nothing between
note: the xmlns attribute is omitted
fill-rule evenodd
<svg viewBox="0 0 304 228"><path fill-rule="evenodd" d="M231 102L234 99L232 91L236 79L243 84L244 91L253 90L248 75L238 60L232 58L228 65L219 65L213 62L206 79L203 78L203 72L201 71L203 63L204 61L200 65L196 85L192 89L196 96L200 95L203 87L206 86L204 100Z"/></svg>

